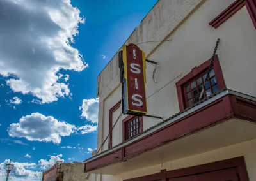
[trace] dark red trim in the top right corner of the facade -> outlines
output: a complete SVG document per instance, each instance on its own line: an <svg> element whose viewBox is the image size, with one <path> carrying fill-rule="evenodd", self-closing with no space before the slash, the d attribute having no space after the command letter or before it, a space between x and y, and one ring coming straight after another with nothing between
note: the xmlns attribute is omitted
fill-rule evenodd
<svg viewBox="0 0 256 181"><path fill-rule="evenodd" d="M246 6L248 13L252 19L253 25L256 29L256 0L236 0L228 8L220 13L216 18L214 18L209 25L214 28L219 27L223 22L230 18L234 13L240 10L243 6Z"/></svg>

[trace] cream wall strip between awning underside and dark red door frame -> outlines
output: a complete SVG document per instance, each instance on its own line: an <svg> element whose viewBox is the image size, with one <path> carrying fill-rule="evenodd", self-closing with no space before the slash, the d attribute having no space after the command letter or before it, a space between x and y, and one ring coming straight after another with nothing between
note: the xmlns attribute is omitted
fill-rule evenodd
<svg viewBox="0 0 256 181"><path fill-rule="evenodd" d="M244 156L246 163L246 170L248 172L248 177L250 180L255 180L256 178L256 140L245 141L243 143L238 143L236 145L231 145L228 147L219 148L212 150L210 152L204 152L202 154L197 154L195 156L185 157L182 159L177 159L163 164L158 164L156 166L151 166L147 168L141 168L140 170L131 171L127 173L122 173L120 175L115 175L115 181L125 180L129 178L136 178L145 175L151 175L154 173L159 173L160 170L166 169L176 170L179 168L187 168L189 166L196 166L205 163L212 163L214 161L221 161L224 159L230 159L234 157Z"/></svg>

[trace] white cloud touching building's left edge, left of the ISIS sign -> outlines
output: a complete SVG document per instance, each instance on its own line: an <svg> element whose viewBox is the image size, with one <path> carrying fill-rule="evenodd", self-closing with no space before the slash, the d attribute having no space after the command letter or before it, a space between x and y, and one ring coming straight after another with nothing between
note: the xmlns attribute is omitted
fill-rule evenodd
<svg viewBox="0 0 256 181"><path fill-rule="evenodd" d="M99 98L83 99L83 105L79 107L82 110L81 117L85 117L93 123L98 122Z"/></svg>

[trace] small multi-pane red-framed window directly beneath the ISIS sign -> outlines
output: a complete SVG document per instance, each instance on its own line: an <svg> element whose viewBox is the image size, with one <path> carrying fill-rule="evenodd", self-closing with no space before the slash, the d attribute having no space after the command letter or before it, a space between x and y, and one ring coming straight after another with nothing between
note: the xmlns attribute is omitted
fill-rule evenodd
<svg viewBox="0 0 256 181"><path fill-rule="evenodd" d="M123 141L143 132L143 117L129 115L123 120Z"/></svg>

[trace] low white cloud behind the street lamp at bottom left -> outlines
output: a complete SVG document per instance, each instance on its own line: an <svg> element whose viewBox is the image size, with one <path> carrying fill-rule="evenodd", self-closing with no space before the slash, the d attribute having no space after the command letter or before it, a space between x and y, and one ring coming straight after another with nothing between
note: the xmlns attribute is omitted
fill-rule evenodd
<svg viewBox="0 0 256 181"><path fill-rule="evenodd" d="M6 173L5 165L9 163L10 160L6 159L3 163L0 163L0 172ZM36 167L35 163L19 163L13 162L13 170L12 170L12 177L23 177L26 178L25 180L34 180L33 178L40 180L42 179L42 172L38 171L31 171L29 169L33 169Z"/></svg>

